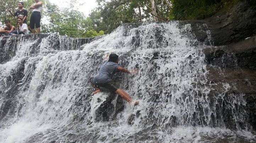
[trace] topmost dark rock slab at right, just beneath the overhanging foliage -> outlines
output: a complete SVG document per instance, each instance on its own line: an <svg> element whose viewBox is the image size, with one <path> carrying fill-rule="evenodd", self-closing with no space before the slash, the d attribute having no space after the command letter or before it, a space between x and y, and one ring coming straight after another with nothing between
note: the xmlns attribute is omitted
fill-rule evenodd
<svg viewBox="0 0 256 143"><path fill-rule="evenodd" d="M256 33L256 10L247 2L239 2L229 10L221 10L214 16L204 20L187 20L198 41L207 39L207 30L211 31L211 43L208 45L221 46L244 40ZM207 24L207 26L203 26Z"/></svg>

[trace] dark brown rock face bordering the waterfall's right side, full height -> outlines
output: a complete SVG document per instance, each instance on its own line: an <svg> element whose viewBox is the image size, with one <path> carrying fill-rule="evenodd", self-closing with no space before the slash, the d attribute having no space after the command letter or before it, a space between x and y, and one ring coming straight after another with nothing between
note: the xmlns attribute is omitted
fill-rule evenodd
<svg viewBox="0 0 256 143"><path fill-rule="evenodd" d="M197 30L199 23L207 24L207 28ZM210 18L193 21L191 26L199 41L207 40L207 33L203 31L211 31L211 42L207 44L219 46L204 49L212 88L215 92L226 92L226 99L230 93L237 97L243 95L246 101L243 108L247 113L244 118L251 125L250 130L255 131L256 10L247 2L239 2L228 10L222 9ZM226 117L228 119L228 114ZM225 124L229 129L234 127L232 119L228 119Z"/></svg>

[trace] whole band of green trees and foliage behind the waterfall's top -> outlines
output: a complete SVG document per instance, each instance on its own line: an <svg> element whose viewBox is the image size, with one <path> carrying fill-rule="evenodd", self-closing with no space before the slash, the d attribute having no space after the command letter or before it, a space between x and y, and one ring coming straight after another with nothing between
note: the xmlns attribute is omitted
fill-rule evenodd
<svg viewBox="0 0 256 143"><path fill-rule="evenodd" d="M0 0L0 20L10 19L16 23L16 18L6 11L10 8L14 13L18 10L19 0ZM220 8L233 6L236 2L247 1L252 8L256 8L256 0L96 0L98 7L89 17L76 11L78 0L70 0L70 7L60 9L49 0L42 0L42 17L47 23L41 24L41 31L74 38L94 37L109 34L123 23L137 23L143 21L167 21L204 19L212 16ZM31 10L29 6L34 0L24 0L24 9L28 10L29 22ZM155 7L152 8L153 4ZM154 19L152 18L154 16ZM3 24L0 23L0 26Z"/></svg>

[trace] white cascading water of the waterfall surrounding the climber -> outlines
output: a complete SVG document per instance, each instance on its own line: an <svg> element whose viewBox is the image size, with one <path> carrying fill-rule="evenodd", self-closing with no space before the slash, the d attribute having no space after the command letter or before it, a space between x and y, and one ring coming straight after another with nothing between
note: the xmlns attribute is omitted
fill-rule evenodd
<svg viewBox="0 0 256 143"><path fill-rule="evenodd" d="M210 95L205 46L195 40L189 24L124 25L80 47L59 36L56 48L52 38L44 37L35 51L31 47L37 40L21 38L11 60L0 64L1 143L255 141L238 127L244 121L243 95L230 101L232 108L234 102L241 105L232 110L238 131L226 129L219 119L224 93ZM117 95L91 95L89 78L110 53L118 54L129 70L139 68L136 75L115 77L120 88L140 101L136 107L124 101L121 112L116 112ZM23 76L15 80L18 73ZM114 96L111 119L101 120L97 112L108 96Z"/></svg>

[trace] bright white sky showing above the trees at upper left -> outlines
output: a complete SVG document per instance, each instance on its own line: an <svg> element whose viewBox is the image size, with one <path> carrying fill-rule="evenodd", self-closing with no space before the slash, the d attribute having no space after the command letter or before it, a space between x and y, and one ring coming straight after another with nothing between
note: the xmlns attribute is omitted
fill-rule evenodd
<svg viewBox="0 0 256 143"><path fill-rule="evenodd" d="M70 0L50 0L51 3L58 5L60 8L69 7ZM78 4L75 6L78 8L78 11L83 12L85 16L89 16L91 10L96 6L96 0L78 0Z"/></svg>

